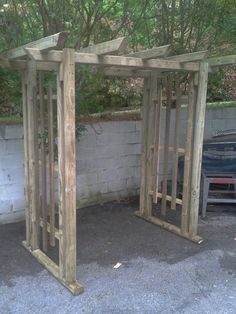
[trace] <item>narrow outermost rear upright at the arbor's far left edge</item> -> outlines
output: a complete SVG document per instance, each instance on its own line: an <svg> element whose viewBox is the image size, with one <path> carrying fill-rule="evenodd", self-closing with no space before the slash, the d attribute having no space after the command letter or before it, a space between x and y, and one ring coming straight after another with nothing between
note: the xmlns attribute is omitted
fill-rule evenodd
<svg viewBox="0 0 236 314"><path fill-rule="evenodd" d="M25 194L25 221L26 221L26 243L30 245L31 216L29 208L29 126L28 126L28 106L27 106L27 73L21 74L22 80L22 103L23 103L23 128L24 128L24 194Z"/></svg>

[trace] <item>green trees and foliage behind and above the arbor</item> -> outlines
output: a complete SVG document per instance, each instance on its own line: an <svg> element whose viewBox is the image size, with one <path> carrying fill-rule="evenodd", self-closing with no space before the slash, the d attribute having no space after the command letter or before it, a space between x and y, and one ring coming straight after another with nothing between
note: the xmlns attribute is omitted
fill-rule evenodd
<svg viewBox="0 0 236 314"><path fill-rule="evenodd" d="M79 49L128 36L130 50L172 44L172 53L209 49L210 55L235 53L235 0L8 0L0 3L0 49L17 47L59 31L67 46ZM140 103L139 81L105 80L93 68L79 69L77 112L87 114ZM234 95L228 72L210 75L210 100ZM83 77L83 78L81 78ZM48 78L49 83L53 78ZM16 74L0 70L0 114L14 103L19 112ZM230 88L222 87L222 83ZM138 86L137 86L138 85ZM136 86L136 87L135 87ZM80 92L79 92L80 91Z"/></svg>

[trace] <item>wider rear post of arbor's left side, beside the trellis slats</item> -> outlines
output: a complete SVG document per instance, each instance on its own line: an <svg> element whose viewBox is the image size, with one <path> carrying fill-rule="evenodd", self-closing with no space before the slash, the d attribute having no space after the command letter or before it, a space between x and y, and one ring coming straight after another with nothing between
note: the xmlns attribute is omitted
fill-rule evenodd
<svg viewBox="0 0 236 314"><path fill-rule="evenodd" d="M29 144L29 209L31 217L30 246L39 248L39 160L36 65L28 62L27 69L28 144Z"/></svg>

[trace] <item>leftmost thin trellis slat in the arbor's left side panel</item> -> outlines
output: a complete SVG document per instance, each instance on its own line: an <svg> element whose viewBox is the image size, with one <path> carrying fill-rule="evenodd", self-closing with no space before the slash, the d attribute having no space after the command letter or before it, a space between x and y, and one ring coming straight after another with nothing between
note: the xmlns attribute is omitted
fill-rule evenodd
<svg viewBox="0 0 236 314"><path fill-rule="evenodd" d="M48 233L47 233L47 173L46 173L46 150L44 143L45 133L45 103L44 103L44 90L43 90L43 76L42 72L39 72L39 115L40 115L40 204L41 214L43 218L43 250L47 252L48 249Z"/></svg>

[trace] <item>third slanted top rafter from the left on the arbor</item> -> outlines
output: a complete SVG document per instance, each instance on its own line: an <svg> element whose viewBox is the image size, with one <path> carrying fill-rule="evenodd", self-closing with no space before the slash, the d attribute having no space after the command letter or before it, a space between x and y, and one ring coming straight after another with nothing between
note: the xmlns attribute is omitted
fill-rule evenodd
<svg viewBox="0 0 236 314"><path fill-rule="evenodd" d="M135 57L135 58L141 58L144 60L148 59L155 59L155 58L161 58L161 57L167 57L170 53L171 45L165 45L160 47L153 47L151 49L143 50L143 51L137 51L137 52L131 52L125 57Z"/></svg>

